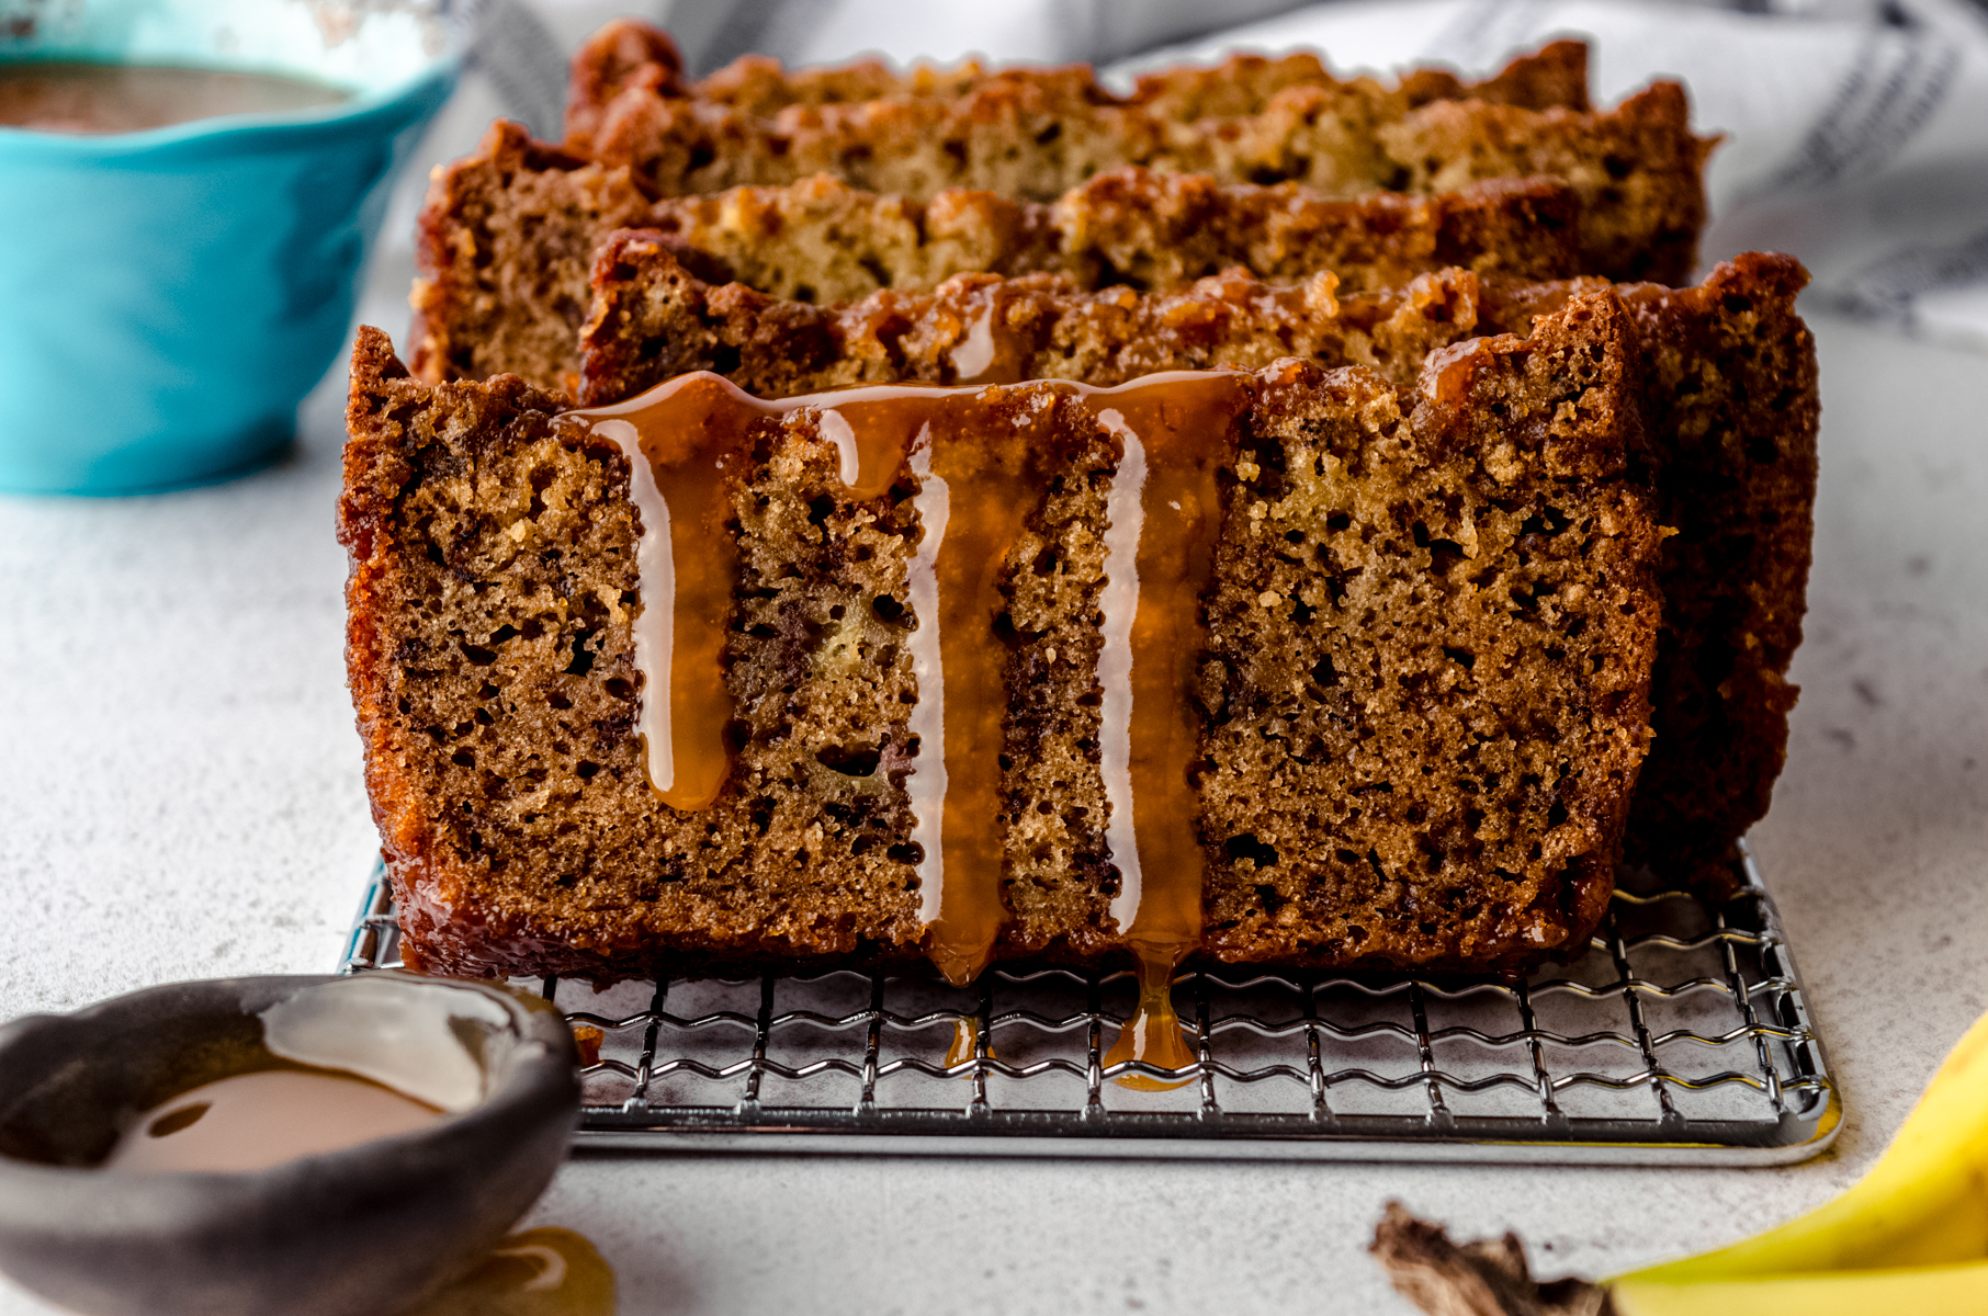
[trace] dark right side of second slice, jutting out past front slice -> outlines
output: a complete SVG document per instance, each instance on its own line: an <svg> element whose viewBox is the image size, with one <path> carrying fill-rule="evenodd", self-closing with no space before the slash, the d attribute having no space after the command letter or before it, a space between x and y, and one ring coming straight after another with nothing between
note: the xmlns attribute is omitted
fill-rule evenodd
<svg viewBox="0 0 1988 1316"><path fill-rule="evenodd" d="M1738 256L1696 288L1634 288L1644 400L1668 453L1658 684L1662 751L1644 765L1630 859L1706 891L1734 885L1734 841L1767 815L1787 759L1815 537L1815 336L1791 256Z"/></svg>

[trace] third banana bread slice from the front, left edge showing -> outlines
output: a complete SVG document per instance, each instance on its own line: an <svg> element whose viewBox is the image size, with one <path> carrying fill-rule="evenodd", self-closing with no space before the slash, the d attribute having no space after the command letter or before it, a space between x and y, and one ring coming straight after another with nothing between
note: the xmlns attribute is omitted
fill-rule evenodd
<svg viewBox="0 0 1988 1316"><path fill-rule="evenodd" d="M968 189L912 203L829 175L652 203L626 169L497 121L429 189L412 364L429 384L507 372L565 392L579 372L592 256L622 227L664 235L710 282L831 304L879 288L916 292L962 272L1048 270L1085 288L1165 288L1233 264L1262 278L1330 268L1348 288L1445 266L1565 278L1584 268L1578 207L1569 185L1549 179L1328 201L1294 183L1223 185L1137 167L1054 203Z"/></svg>

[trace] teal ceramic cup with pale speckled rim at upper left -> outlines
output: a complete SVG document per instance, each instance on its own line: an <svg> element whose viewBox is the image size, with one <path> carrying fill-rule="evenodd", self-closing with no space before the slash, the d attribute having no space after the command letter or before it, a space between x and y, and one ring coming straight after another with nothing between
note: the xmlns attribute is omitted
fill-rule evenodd
<svg viewBox="0 0 1988 1316"><path fill-rule="evenodd" d="M431 4L0 0L0 64L20 60L348 95L135 133L0 125L0 489L139 493L270 461L455 85L453 28Z"/></svg>

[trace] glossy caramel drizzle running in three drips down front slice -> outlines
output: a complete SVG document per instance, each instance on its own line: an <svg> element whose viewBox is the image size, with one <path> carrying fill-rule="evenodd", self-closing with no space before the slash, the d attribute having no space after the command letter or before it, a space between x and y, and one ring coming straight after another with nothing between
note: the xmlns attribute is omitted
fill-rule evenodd
<svg viewBox="0 0 1988 1316"><path fill-rule="evenodd" d="M970 378L1006 374L1012 364L994 344L998 300L984 300L956 352L960 374ZM1101 598L1101 771L1107 843L1121 875L1111 916L1139 960L1141 996L1111 1056L1183 1068L1193 1056L1169 982L1201 932L1205 867L1189 781L1201 724L1189 686L1221 525L1215 473L1227 457L1227 447L1207 437L1229 431L1246 392L1239 376L1201 372L1109 390L1058 388L1081 398L1123 451L1109 495ZM877 386L761 402L720 376L692 374L626 404L569 413L628 455L630 497L642 513L636 666L646 678L638 730L650 781L664 803L702 809L730 775L722 650L738 549L728 533L734 473L726 463L757 417L801 408L819 410L819 431L837 447L851 497L881 497L907 473L918 485L922 537L907 582L918 618L907 644L918 678L912 839L922 851L926 954L948 982L964 984L988 964L1006 920L994 833L1008 654L994 618L1006 608L1000 580L1008 555L1048 487L1054 443L1038 437L1032 417L1050 410L1000 410L972 386ZM660 527L668 533L654 533ZM656 690L668 698L652 698Z"/></svg>

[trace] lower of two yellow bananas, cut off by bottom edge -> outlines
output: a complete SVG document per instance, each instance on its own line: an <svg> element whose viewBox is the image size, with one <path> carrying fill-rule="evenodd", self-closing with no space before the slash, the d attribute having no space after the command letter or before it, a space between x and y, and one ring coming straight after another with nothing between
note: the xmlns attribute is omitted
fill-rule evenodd
<svg viewBox="0 0 1988 1316"><path fill-rule="evenodd" d="M1624 1278L1608 1288L1616 1316L1964 1316L1988 1312L1988 1260L1910 1270L1757 1274L1666 1284Z"/></svg>

